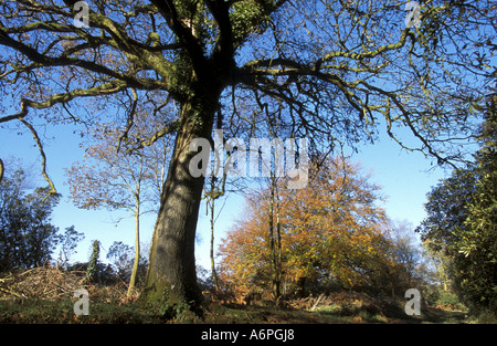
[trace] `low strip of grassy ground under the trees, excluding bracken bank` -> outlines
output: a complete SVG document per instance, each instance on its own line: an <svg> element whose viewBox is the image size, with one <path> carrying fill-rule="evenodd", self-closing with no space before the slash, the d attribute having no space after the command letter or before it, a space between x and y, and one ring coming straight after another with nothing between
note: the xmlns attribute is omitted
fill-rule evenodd
<svg viewBox="0 0 497 346"><path fill-rule="evenodd" d="M421 316L408 316L400 305L389 305L384 311L363 304L319 305L308 308L276 307L268 303L239 305L208 303L203 318L189 312L173 319L165 319L157 313L137 303L113 304L94 302L89 304L88 316L76 316L74 302L44 300L1 300L0 323L50 323L50 324L148 324L148 323L210 323L210 324L332 324L332 323L466 323L464 312L444 311L432 307L422 310Z"/></svg>

